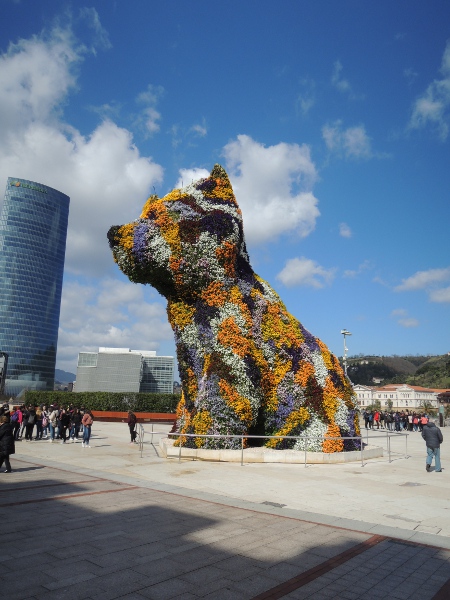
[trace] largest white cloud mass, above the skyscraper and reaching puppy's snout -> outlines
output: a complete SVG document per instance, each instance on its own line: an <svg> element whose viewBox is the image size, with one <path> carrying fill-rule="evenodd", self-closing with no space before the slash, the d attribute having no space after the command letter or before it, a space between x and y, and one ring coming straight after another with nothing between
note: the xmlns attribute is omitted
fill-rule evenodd
<svg viewBox="0 0 450 600"><path fill-rule="evenodd" d="M66 270L99 275L113 264L109 227L139 215L162 168L112 121L88 136L64 122L61 106L84 54L69 28L56 28L0 57L0 181L31 179L69 195Z"/></svg>

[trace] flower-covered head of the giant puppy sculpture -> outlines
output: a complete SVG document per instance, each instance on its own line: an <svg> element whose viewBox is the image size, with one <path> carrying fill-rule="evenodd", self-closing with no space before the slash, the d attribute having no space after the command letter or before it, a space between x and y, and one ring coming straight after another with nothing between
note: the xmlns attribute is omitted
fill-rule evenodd
<svg viewBox="0 0 450 600"><path fill-rule="evenodd" d="M111 227L108 240L123 273L166 298L195 296L212 281L253 273L242 214L220 165L207 179L151 196L140 218Z"/></svg>

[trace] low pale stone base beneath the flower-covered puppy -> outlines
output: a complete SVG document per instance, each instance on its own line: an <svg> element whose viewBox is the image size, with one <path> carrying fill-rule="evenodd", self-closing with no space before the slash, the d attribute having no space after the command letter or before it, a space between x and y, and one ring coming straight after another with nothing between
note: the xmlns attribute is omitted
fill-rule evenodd
<svg viewBox="0 0 450 600"><path fill-rule="evenodd" d="M206 460L212 462L243 462L245 463L284 463L304 464L305 452L302 450L271 450L270 448L245 448L242 450L207 450L205 448L181 448L173 445L174 440L161 438L159 447L165 458L190 458L191 460ZM383 456L383 448L365 446L364 460ZM307 452L306 462L309 464L336 464L346 462L361 462L361 452Z"/></svg>

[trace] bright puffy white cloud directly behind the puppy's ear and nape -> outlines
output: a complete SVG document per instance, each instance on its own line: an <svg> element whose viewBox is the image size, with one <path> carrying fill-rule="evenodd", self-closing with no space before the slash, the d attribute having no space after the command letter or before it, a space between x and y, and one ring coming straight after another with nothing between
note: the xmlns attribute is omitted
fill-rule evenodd
<svg viewBox="0 0 450 600"><path fill-rule="evenodd" d="M260 243L314 230L320 213L312 188L317 172L306 145L265 147L239 135L224 148L226 167L242 209L247 241Z"/></svg>

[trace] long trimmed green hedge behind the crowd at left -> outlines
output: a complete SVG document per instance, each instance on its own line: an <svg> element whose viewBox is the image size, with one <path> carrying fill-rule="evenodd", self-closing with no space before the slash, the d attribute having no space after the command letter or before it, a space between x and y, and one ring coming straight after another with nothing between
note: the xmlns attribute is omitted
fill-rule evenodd
<svg viewBox="0 0 450 600"><path fill-rule="evenodd" d="M89 410L116 410L135 412L174 413L179 394L134 394L117 392L38 392L27 391L25 404L40 406L58 404L89 408Z"/></svg>

